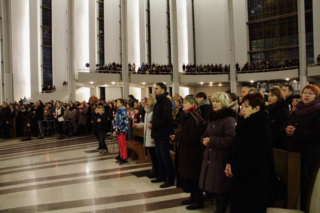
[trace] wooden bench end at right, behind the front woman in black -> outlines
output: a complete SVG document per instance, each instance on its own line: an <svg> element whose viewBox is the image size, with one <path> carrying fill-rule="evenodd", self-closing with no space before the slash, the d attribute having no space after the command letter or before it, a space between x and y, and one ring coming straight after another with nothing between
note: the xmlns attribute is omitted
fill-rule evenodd
<svg viewBox="0 0 320 213"><path fill-rule="evenodd" d="M301 154L273 149L276 172L286 185L286 198L276 200L275 207L297 209L300 194Z"/></svg>

